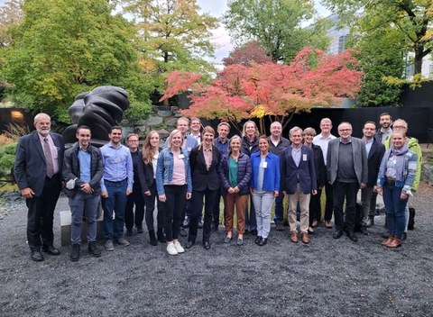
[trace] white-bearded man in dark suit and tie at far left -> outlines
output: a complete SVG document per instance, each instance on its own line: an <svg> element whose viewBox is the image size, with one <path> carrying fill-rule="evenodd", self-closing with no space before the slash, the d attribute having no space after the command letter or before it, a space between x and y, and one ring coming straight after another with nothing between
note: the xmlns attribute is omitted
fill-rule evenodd
<svg viewBox="0 0 433 317"><path fill-rule="evenodd" d="M36 131L23 136L16 148L14 177L29 209L27 240L33 261L42 261L41 250L60 254L52 242L54 209L61 189L64 143L60 134L51 132L46 113L34 117Z"/></svg>

